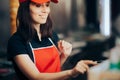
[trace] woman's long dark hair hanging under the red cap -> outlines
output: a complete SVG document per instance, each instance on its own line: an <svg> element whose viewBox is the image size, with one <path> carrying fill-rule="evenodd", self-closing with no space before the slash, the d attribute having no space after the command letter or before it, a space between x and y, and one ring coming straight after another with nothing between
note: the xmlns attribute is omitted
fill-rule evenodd
<svg viewBox="0 0 120 80"><path fill-rule="evenodd" d="M20 3L16 19L17 32L20 33L27 42L30 41L36 33L36 30L32 26L33 20L30 16L29 4L30 1ZM48 16L45 24L40 25L40 32L42 37L51 37L52 21L50 16Z"/></svg>

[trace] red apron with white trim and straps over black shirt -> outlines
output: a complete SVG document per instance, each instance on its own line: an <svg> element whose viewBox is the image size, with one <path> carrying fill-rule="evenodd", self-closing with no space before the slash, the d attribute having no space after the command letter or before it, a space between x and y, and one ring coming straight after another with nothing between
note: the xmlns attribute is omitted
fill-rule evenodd
<svg viewBox="0 0 120 80"><path fill-rule="evenodd" d="M60 66L60 54L54 45L53 41L49 38L53 44L51 46L42 48L32 48L34 63L40 72L59 72Z"/></svg>

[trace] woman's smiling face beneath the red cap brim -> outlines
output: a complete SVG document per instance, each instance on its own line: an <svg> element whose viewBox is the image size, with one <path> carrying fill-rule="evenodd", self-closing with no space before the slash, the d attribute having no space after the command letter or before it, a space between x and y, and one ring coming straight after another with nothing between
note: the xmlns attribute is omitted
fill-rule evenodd
<svg viewBox="0 0 120 80"><path fill-rule="evenodd" d="M37 4L30 3L30 15L34 24L44 24L50 13L50 2Z"/></svg>

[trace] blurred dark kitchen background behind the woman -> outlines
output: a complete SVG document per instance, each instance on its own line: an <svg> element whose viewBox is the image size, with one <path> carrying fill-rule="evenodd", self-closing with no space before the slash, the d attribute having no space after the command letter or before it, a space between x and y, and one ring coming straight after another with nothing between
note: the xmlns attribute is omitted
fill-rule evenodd
<svg viewBox="0 0 120 80"><path fill-rule="evenodd" d="M95 61L109 59L109 51L120 44L120 0L109 0L109 2L105 4L104 0L59 0L58 4L51 3L50 15L54 30L60 39L73 45L73 51L63 65L63 70L73 68L83 59ZM107 9L105 5L108 6ZM1 80L17 80L12 63L7 61L6 49L8 39L16 31L18 6L18 0L0 2ZM109 24L101 25L104 23ZM105 31L108 31L107 35ZM118 58L120 61L120 57ZM71 80L81 78L87 80L87 73Z"/></svg>

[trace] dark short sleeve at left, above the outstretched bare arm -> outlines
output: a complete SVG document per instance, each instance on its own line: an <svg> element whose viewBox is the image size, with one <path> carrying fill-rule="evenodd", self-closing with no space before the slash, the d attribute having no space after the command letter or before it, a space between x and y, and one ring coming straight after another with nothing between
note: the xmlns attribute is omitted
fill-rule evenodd
<svg viewBox="0 0 120 80"><path fill-rule="evenodd" d="M7 57L8 60L13 59L16 55L27 54L27 49L24 41L19 36L13 36L8 41Z"/></svg>

